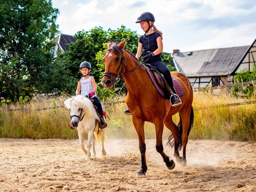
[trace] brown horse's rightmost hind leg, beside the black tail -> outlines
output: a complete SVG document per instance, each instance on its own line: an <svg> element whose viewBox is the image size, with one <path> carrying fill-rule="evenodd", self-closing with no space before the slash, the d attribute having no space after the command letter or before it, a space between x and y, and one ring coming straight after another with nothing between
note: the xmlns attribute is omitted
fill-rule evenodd
<svg viewBox="0 0 256 192"><path fill-rule="evenodd" d="M182 140L182 146L183 146L182 161L181 161L182 166L186 166L186 164L187 164L186 147L188 144L188 128L189 128L189 121L190 121L190 111L191 111L191 106L182 108L180 110L180 117L182 119L181 140Z"/></svg>

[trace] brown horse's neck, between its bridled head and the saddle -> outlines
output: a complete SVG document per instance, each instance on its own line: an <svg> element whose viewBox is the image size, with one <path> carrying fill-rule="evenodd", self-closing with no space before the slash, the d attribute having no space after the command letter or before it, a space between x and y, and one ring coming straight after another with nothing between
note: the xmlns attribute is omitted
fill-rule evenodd
<svg viewBox="0 0 256 192"><path fill-rule="evenodd" d="M126 69L124 74L129 73L134 68L140 65L140 62L128 53L126 53L125 55L125 60L126 60ZM127 74L127 76L124 77L124 81L126 83L128 92L140 94L140 92L142 91L142 88L144 88L148 84L148 82L145 81L146 75L147 75L147 72L145 68L143 68L142 66L138 67L131 73Z"/></svg>

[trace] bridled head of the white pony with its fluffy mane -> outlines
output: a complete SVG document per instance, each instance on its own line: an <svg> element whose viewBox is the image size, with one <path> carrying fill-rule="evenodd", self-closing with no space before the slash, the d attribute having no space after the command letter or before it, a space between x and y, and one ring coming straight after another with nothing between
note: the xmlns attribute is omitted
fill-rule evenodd
<svg viewBox="0 0 256 192"><path fill-rule="evenodd" d="M83 120L84 116L86 116L86 118L88 117L99 120L91 100L83 97L82 95L68 98L64 101L64 105L70 112L72 127L77 127L78 123Z"/></svg>

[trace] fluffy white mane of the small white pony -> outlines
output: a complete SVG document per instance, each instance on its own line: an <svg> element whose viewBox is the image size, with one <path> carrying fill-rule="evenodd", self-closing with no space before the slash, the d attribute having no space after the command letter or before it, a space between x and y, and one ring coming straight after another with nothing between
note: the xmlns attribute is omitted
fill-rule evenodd
<svg viewBox="0 0 256 192"><path fill-rule="evenodd" d="M99 116L93 107L92 101L82 95L68 98L64 101L64 105L68 109L71 107L75 107L77 109L82 108L86 113L85 116L99 120Z"/></svg>

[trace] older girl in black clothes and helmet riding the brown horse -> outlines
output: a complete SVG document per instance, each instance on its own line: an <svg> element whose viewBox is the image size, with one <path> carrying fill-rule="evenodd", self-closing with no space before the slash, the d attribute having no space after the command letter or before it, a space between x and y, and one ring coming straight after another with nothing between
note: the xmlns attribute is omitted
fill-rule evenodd
<svg viewBox="0 0 256 192"><path fill-rule="evenodd" d="M140 36L138 42L138 50L136 54L136 58L140 59L140 55L142 53L142 48L144 49L143 62L147 60L147 63L151 66L157 68L157 70L164 75L164 78L171 88L173 94L171 96L171 104L172 106L177 106L181 104L180 99L176 97L175 89L173 88L172 77L167 66L162 62L160 57L161 52L163 51L163 42L162 36L163 33L159 31L155 25L155 17L150 12L141 13L138 17L136 23L140 23L140 28L145 32L144 35ZM125 115L130 115L129 109L124 110Z"/></svg>

